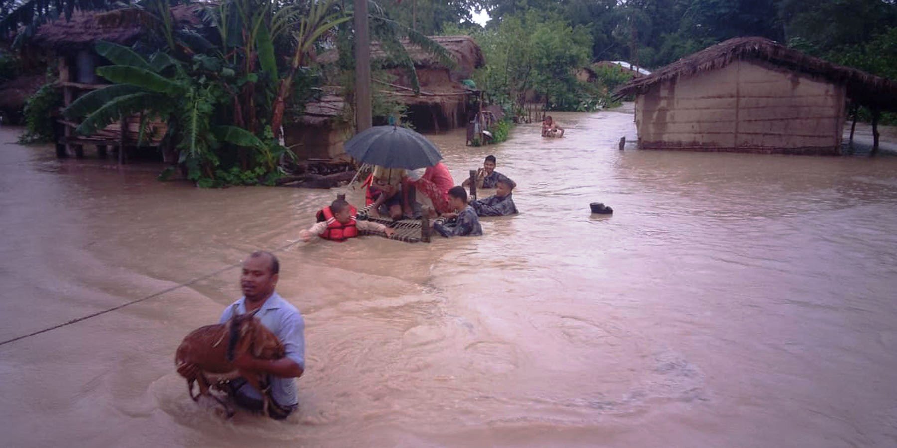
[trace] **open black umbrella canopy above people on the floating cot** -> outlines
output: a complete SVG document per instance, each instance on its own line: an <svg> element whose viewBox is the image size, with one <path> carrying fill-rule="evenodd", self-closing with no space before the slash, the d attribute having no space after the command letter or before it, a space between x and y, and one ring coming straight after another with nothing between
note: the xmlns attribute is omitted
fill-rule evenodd
<svg viewBox="0 0 897 448"><path fill-rule="evenodd" d="M345 142L345 152L363 163L384 168L432 167L442 159L432 142L411 129L374 126Z"/></svg>

